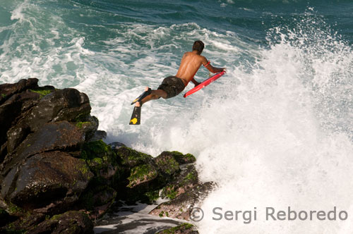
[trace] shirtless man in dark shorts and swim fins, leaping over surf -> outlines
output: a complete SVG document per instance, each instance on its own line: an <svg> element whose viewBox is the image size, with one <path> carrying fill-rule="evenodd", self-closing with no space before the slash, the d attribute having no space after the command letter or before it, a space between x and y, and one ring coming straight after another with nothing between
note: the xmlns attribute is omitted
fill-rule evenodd
<svg viewBox="0 0 353 234"><path fill-rule="evenodd" d="M195 86L200 84L193 77L198 71L198 68L201 67L201 64L210 70L211 73L219 73L222 70L225 70L225 68L213 67L210 65L210 61L208 61L204 56L201 56L204 47L205 45L201 41L193 42L193 51L186 52L183 58L181 58L177 75L165 78L157 90L151 90L149 87L145 88L145 92L143 92L140 97L131 103L135 104L135 109L133 111L133 116L131 117L132 122L130 121L130 124L140 123L140 106L145 104L145 102L159 99L160 97L164 99L175 97L184 90L190 81L193 82ZM134 115L134 113L136 114Z"/></svg>

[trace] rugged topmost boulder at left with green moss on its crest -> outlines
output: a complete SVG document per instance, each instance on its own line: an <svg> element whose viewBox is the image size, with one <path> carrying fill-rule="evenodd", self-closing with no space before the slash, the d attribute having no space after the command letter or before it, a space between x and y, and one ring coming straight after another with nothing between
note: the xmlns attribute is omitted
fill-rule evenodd
<svg viewBox="0 0 353 234"><path fill-rule="evenodd" d="M80 122L80 119L85 119L89 124L85 125L83 132L92 137L98 121L89 113L88 97L78 90L55 90L46 86L15 94L0 106L0 118L4 118L1 122L5 126L0 132L0 145L5 144L8 138L7 154L11 154L29 133L55 121ZM4 157L5 152L0 153Z"/></svg>

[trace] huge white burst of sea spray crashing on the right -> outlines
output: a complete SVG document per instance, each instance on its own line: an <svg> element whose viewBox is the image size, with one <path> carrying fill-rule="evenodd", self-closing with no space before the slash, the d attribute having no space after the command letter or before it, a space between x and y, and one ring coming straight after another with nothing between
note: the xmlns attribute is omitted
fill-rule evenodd
<svg viewBox="0 0 353 234"><path fill-rule="evenodd" d="M301 26L289 37L278 31L282 40L262 51L251 74L237 70L238 92L210 100L199 111L207 127L189 125L194 136L208 139L198 156L201 177L220 185L203 204L201 233L352 230L352 216L347 221L265 219L265 207L326 212L337 207L352 214L352 49L321 37L326 32L318 28ZM299 46L296 39L303 36L313 44ZM214 221L215 207L233 213L256 207L258 219Z"/></svg>

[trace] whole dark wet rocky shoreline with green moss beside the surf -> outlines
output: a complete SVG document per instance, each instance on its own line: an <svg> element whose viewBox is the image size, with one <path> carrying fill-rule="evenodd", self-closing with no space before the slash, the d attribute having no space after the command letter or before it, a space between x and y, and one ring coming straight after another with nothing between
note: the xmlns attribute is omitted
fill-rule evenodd
<svg viewBox="0 0 353 234"><path fill-rule="evenodd" d="M198 233L185 221L215 184L198 180L193 155L106 144L86 94L37 82L0 85L0 233L94 233L121 201L161 197L148 214L180 222L149 233Z"/></svg>

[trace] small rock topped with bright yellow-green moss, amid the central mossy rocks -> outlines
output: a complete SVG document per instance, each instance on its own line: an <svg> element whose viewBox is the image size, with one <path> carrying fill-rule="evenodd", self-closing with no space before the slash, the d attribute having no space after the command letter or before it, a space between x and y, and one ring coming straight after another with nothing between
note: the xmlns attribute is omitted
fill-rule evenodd
<svg viewBox="0 0 353 234"><path fill-rule="evenodd" d="M149 183L151 180L157 178L157 170L150 164L136 166L131 169L131 174L128 177L127 187L136 187L143 183Z"/></svg>

